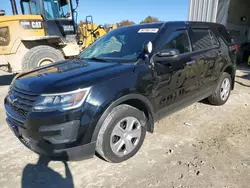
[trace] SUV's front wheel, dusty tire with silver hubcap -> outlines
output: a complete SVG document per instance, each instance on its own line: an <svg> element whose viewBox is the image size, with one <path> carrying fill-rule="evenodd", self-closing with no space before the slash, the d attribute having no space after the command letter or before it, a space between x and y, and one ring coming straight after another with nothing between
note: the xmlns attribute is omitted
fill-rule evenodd
<svg viewBox="0 0 250 188"><path fill-rule="evenodd" d="M146 134L145 114L126 104L115 107L104 120L97 138L97 153L109 162L120 163L134 156Z"/></svg>

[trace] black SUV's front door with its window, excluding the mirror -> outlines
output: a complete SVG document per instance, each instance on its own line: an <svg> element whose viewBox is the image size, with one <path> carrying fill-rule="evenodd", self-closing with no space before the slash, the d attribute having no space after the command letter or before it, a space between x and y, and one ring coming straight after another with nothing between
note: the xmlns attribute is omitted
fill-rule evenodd
<svg viewBox="0 0 250 188"><path fill-rule="evenodd" d="M176 61L155 62L155 84L153 88L153 98L157 105L157 110L161 110L176 101L185 98L187 93L187 73L191 74L193 65L191 65L192 56L191 43L187 30L172 29L163 37L161 49L178 49L180 59ZM190 64L189 64L190 63Z"/></svg>

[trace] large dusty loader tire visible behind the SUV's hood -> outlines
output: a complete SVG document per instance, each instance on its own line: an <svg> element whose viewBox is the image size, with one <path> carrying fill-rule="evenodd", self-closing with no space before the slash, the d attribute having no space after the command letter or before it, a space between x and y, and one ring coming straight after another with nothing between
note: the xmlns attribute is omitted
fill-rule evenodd
<svg viewBox="0 0 250 188"><path fill-rule="evenodd" d="M22 69L29 70L61 60L64 60L64 56L59 50L51 46L36 46L25 54L22 61Z"/></svg>

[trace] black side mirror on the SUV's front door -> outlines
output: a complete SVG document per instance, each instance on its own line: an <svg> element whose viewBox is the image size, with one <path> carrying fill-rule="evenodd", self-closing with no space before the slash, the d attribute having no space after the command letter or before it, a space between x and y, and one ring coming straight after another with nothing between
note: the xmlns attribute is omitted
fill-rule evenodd
<svg viewBox="0 0 250 188"><path fill-rule="evenodd" d="M154 60L155 61L175 61L180 57L180 52L177 49L163 49L158 52Z"/></svg>

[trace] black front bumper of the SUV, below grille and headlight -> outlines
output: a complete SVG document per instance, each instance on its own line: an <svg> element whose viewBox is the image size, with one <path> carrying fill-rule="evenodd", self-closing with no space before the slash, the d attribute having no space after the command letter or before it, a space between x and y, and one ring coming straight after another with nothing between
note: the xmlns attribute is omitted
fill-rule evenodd
<svg viewBox="0 0 250 188"><path fill-rule="evenodd" d="M6 121L15 136L29 149L54 160L83 160L95 153L95 142L83 142L88 122L80 110L35 113L22 118L5 99Z"/></svg>

